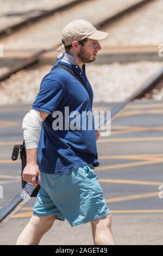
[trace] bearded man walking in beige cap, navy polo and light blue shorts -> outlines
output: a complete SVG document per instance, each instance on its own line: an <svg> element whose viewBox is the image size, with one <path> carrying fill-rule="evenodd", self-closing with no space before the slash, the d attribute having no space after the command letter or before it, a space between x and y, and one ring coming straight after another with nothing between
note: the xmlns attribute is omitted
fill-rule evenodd
<svg viewBox="0 0 163 256"><path fill-rule="evenodd" d="M58 48L65 48L65 53L43 78L32 110L23 119L27 151L23 179L33 186L39 182L41 188L17 245L38 245L54 221L65 218L72 227L91 222L95 245L115 244L110 211L94 172L99 164L99 133L94 123L92 129L54 129L57 114L65 117L66 107L71 112L69 120L73 120L72 113L79 113L80 119L83 112L92 112L93 92L84 63L95 61L101 50L98 41L107 35L85 20L70 22ZM61 123L65 127L66 119Z"/></svg>

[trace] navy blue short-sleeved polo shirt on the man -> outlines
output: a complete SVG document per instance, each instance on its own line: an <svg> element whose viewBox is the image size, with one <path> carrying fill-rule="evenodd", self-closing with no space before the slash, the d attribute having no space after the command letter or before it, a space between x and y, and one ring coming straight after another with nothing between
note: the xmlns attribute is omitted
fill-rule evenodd
<svg viewBox="0 0 163 256"><path fill-rule="evenodd" d="M71 56L72 57L72 56ZM83 85L67 71L57 68L67 65L73 69L86 83L89 94ZM70 174L71 169L92 163L98 166L95 124L89 130L54 130L52 117L54 111L60 111L65 124L65 107L73 111L92 111L93 91L85 74L85 64L82 70L72 63L58 61L47 74L40 86L39 93L32 109L48 113L42 122L40 141L37 150L39 169L48 174ZM94 121L93 121L94 122ZM64 127L64 126L63 126Z"/></svg>

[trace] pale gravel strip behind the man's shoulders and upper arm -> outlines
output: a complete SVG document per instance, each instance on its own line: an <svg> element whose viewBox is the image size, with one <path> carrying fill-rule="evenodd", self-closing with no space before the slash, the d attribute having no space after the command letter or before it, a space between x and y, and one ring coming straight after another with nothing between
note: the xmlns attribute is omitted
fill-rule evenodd
<svg viewBox="0 0 163 256"><path fill-rule="evenodd" d="M0 104L32 103L43 76L51 68L51 65L36 66L3 81L0 87ZM93 88L94 102L122 102L161 68L161 62L87 64L86 74Z"/></svg>

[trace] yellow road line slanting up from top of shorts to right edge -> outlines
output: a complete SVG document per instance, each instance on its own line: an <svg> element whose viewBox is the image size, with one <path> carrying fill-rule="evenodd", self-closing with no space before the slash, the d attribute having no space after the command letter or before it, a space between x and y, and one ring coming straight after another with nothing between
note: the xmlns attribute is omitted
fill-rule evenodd
<svg viewBox="0 0 163 256"><path fill-rule="evenodd" d="M111 164L109 166L102 166L97 167L96 172L99 172L100 170L112 170L112 169L121 169L121 168L128 168L128 167L134 167L134 166L142 166L146 164L155 164L155 163L162 163L163 160L158 161L141 161L141 162L134 162L134 163L120 163L120 164Z"/></svg>

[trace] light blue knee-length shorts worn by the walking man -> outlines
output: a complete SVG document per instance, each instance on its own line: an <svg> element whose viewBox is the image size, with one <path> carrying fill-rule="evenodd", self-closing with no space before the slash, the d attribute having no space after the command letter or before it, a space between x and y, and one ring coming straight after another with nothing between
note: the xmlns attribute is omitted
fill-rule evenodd
<svg viewBox="0 0 163 256"><path fill-rule="evenodd" d="M72 168L71 174L41 172L40 186L34 216L56 215L73 227L110 214L92 164Z"/></svg>

